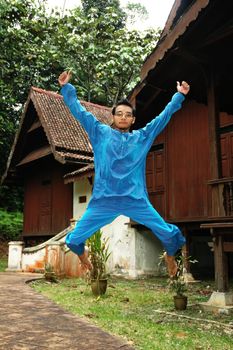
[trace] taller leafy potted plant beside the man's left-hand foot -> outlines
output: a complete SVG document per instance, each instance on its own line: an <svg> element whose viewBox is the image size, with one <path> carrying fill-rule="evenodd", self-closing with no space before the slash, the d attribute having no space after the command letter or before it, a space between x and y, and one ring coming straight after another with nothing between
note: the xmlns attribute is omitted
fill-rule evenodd
<svg viewBox="0 0 233 350"><path fill-rule="evenodd" d="M96 296L103 295L107 290L106 263L110 257L108 238L102 237L102 231L98 230L87 241L89 257L92 263L90 271L90 284L92 293Z"/></svg>

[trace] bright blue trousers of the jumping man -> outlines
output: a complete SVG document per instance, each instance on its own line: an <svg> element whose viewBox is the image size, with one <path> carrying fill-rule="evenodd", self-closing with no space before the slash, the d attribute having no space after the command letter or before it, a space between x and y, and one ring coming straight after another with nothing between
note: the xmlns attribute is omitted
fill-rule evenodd
<svg viewBox="0 0 233 350"><path fill-rule="evenodd" d="M66 236L67 246L75 254L82 255L85 241L119 215L130 217L133 221L148 227L161 241L168 255L175 255L185 244L185 238L179 228L165 222L149 200L108 197L90 200L86 212L74 230Z"/></svg>

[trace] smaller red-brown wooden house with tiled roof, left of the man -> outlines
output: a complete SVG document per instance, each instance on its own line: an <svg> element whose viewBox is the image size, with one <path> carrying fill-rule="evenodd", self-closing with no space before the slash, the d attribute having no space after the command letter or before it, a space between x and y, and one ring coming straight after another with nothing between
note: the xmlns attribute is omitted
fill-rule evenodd
<svg viewBox="0 0 233 350"><path fill-rule="evenodd" d="M111 123L109 108L83 104L102 122ZM24 186L23 239L27 246L70 225L73 183L65 184L64 175L92 163L87 134L62 96L32 87L3 176L5 183Z"/></svg>

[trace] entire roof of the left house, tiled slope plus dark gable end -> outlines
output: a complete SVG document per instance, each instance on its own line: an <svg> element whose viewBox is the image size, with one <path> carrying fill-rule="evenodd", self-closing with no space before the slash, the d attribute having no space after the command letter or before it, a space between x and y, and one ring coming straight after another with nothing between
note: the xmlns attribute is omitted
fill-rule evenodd
<svg viewBox="0 0 233 350"><path fill-rule="evenodd" d="M110 108L85 101L82 104L101 122L112 123ZM9 170L51 154L61 163L93 161L88 135L66 107L63 97L32 87L2 181L9 175Z"/></svg>

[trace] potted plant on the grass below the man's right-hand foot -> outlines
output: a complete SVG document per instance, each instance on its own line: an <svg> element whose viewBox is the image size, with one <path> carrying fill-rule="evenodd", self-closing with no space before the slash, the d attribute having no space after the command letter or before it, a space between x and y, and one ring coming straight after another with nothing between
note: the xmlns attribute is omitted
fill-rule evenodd
<svg viewBox="0 0 233 350"><path fill-rule="evenodd" d="M174 306L176 310L186 310L188 298L185 292L188 290L188 282L185 278L187 261L189 263L195 263L196 260L191 260L190 257L185 257L180 254L177 258L177 273L176 276L170 279L169 287L175 292Z"/></svg>

